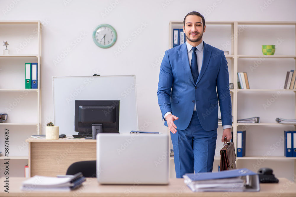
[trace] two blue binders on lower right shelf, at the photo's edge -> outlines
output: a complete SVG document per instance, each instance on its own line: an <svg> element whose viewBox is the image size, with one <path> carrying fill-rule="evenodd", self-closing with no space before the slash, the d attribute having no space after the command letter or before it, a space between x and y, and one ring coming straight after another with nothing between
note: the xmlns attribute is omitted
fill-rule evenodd
<svg viewBox="0 0 296 197"><path fill-rule="evenodd" d="M296 131L284 131L285 156L296 157Z"/></svg>

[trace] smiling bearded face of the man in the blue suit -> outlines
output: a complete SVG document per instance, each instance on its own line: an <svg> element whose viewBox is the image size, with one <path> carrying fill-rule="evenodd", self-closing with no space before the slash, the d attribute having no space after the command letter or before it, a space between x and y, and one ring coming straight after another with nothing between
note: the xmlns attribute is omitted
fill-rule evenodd
<svg viewBox="0 0 296 197"><path fill-rule="evenodd" d="M189 44L191 44L190 42L200 42L205 32L205 27L202 27L202 18L196 15L188 15L185 19L183 31Z"/></svg>

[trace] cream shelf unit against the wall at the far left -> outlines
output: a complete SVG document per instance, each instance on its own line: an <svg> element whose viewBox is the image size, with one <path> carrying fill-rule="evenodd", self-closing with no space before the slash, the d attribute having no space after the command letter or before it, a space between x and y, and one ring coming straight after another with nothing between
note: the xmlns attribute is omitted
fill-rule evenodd
<svg viewBox="0 0 296 197"><path fill-rule="evenodd" d="M4 103L0 104L3 112L8 108L9 102L18 98L19 95L24 96L21 99L25 104L15 105L12 110L5 111L8 114L7 121L0 123L5 128L10 129L11 127L22 130L27 127L36 127L37 134L40 134L41 126L41 23L40 21L0 21L0 38L8 41L9 55L0 55L0 77L8 81L8 83L2 83L0 86L1 96L7 97ZM34 37L34 38L32 38ZM23 48L21 48L22 46ZM19 50L17 50L19 48ZM4 48L3 48L4 49ZM21 50L20 50L21 49ZM30 54L32 52L32 54ZM38 63L38 76L37 76L37 89L25 89L25 63L26 62L37 62ZM23 76L23 77L22 77ZM13 85L11 85L13 83ZM24 94L25 93L25 94ZM14 97L15 96L15 97ZM30 99L34 99L31 101ZM36 101L36 102L35 102ZM28 104L27 104L28 103ZM20 105L20 106L19 106ZM19 119L13 117L15 114L24 114L24 111L32 111L33 118ZM36 109L36 111L35 111ZM1 110L1 112L2 112ZM11 112L11 113L10 113ZM36 116L36 119L35 119ZM10 120L9 120L10 119ZM3 127L3 130L4 130ZM9 132L9 136L17 135ZM9 138L9 147L17 147L20 142L15 140L25 141L25 139L15 139L15 137ZM10 148L9 150L11 150ZM2 154L4 151L2 150ZM13 153L12 153L13 154ZM9 151L9 155L11 152ZM28 156L9 156L4 157L2 155L0 159L21 159L28 160Z"/></svg>

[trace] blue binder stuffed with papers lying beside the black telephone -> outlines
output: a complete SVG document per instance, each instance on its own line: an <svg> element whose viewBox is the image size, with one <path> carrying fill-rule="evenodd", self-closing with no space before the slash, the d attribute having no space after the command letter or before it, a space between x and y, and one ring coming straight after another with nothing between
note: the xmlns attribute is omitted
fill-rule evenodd
<svg viewBox="0 0 296 197"><path fill-rule="evenodd" d="M189 173L184 183L194 192L205 191L260 191L259 177L246 168L215 173Z"/></svg>

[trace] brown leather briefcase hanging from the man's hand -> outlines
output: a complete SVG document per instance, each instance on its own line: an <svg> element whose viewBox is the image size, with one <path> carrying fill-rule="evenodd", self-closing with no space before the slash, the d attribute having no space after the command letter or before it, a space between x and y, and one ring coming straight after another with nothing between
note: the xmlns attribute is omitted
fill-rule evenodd
<svg viewBox="0 0 296 197"><path fill-rule="evenodd" d="M236 169L235 160L237 159L234 151L234 143L224 143L224 147L220 150L220 171Z"/></svg>

